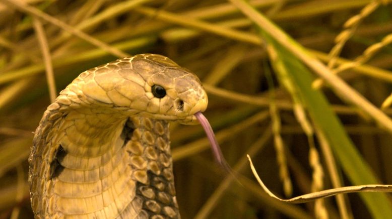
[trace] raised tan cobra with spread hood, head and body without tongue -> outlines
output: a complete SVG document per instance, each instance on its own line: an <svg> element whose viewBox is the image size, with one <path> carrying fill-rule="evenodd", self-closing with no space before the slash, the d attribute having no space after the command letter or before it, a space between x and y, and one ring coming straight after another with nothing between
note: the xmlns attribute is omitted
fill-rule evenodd
<svg viewBox="0 0 392 219"><path fill-rule="evenodd" d="M35 131L36 218L180 218L169 121L195 124L206 91L165 56L142 54L81 73Z"/></svg>

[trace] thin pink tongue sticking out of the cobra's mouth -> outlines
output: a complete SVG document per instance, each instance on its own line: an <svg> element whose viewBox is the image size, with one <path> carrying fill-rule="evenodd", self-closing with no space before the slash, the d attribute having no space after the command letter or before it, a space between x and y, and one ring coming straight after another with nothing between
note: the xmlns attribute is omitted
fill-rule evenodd
<svg viewBox="0 0 392 219"><path fill-rule="evenodd" d="M227 164L225 158L223 157L221 148L219 147L218 141L215 138L214 131L211 128L210 123L207 118L202 114L202 112L195 113L194 116L199 120L204 131L207 134L207 138L210 141L212 152L214 153L215 160L228 172L231 172L229 165Z"/></svg>

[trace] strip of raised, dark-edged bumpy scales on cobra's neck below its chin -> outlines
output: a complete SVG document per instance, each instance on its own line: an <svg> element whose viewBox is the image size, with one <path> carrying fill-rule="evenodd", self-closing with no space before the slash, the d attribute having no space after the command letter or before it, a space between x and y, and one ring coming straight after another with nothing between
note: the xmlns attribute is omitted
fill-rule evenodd
<svg viewBox="0 0 392 219"><path fill-rule="evenodd" d="M143 202L143 210L151 218L180 218L168 122L134 117L127 120L125 127L133 129L126 151L134 170L136 196Z"/></svg>

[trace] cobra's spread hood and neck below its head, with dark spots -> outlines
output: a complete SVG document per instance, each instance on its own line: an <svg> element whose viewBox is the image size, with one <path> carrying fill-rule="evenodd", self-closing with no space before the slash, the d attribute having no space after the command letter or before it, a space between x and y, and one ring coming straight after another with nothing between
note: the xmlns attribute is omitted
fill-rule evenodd
<svg viewBox="0 0 392 219"><path fill-rule="evenodd" d="M166 121L71 111L50 126L42 160L31 158L44 169L31 176L36 215L179 218Z"/></svg>

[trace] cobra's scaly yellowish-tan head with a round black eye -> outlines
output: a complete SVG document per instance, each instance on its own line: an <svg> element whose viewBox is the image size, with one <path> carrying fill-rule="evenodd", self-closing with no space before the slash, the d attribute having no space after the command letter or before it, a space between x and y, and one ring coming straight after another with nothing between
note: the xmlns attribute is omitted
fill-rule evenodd
<svg viewBox="0 0 392 219"><path fill-rule="evenodd" d="M74 108L103 108L127 116L140 115L194 124L208 98L201 81L169 58L141 54L92 68L80 74L58 99Z"/></svg>

